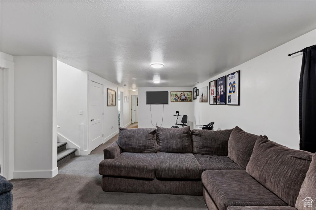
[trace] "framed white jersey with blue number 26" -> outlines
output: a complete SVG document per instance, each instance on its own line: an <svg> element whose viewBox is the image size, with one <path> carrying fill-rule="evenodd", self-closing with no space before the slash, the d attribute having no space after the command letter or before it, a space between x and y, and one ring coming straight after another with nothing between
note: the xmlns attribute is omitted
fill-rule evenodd
<svg viewBox="0 0 316 210"><path fill-rule="evenodd" d="M227 75L227 105L239 105L240 71Z"/></svg>

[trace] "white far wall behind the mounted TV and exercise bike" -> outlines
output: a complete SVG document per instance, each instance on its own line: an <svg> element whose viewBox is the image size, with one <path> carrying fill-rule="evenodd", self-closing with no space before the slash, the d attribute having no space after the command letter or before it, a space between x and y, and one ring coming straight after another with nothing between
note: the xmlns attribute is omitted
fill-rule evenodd
<svg viewBox="0 0 316 210"><path fill-rule="evenodd" d="M163 123L162 120L162 108L163 105L151 105L152 121L150 121L150 105L146 104L146 92L147 91L168 91L168 103L164 105ZM187 125L193 126L193 102L170 102L170 91L192 91L190 87L139 87L138 88L138 127L139 128L153 128L153 125L157 125L165 128L171 128L174 125L176 111L180 112L180 115L188 116ZM181 123L181 117L179 117L178 123ZM152 124L151 124L152 122Z"/></svg>

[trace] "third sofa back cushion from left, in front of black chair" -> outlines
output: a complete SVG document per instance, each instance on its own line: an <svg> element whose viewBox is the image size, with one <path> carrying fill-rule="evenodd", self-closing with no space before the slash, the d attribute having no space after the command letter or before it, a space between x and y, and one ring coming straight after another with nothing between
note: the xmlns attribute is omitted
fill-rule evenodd
<svg viewBox="0 0 316 210"><path fill-rule="evenodd" d="M193 153L227 156L228 139L232 130L191 130Z"/></svg>

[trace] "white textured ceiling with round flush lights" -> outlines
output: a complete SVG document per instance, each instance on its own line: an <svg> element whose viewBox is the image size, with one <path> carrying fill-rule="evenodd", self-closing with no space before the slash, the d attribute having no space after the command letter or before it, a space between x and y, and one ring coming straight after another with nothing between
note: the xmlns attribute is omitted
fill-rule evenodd
<svg viewBox="0 0 316 210"><path fill-rule="evenodd" d="M0 51L55 56L129 88L194 86L316 28L316 1L1 0L0 8Z"/></svg>

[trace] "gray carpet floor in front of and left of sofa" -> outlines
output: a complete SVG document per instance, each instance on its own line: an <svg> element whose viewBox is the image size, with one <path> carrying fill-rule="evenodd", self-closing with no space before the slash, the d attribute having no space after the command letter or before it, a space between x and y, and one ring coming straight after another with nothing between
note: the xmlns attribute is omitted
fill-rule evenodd
<svg viewBox="0 0 316 210"><path fill-rule="evenodd" d="M129 126L137 127L137 123ZM13 209L207 210L203 196L104 192L99 162L103 159L103 149L117 138L118 135L88 156L72 158L58 167L58 175L51 179L12 179Z"/></svg>

